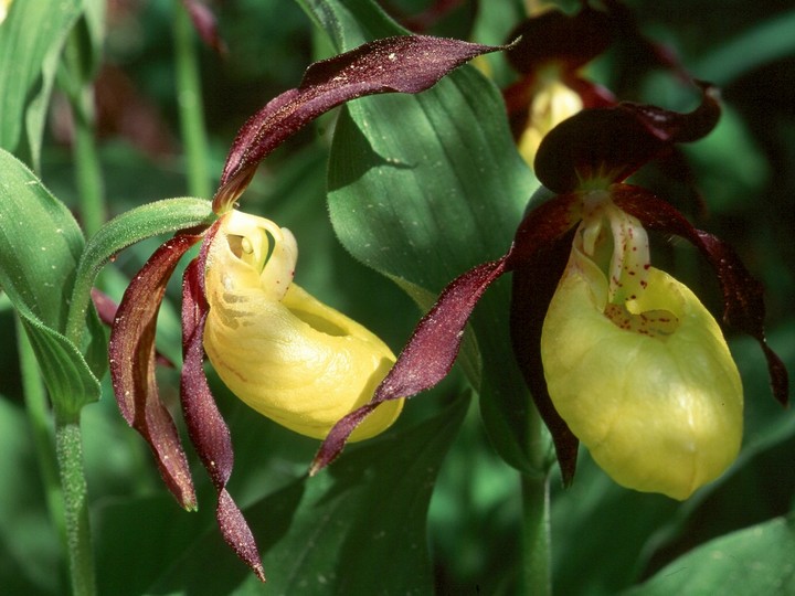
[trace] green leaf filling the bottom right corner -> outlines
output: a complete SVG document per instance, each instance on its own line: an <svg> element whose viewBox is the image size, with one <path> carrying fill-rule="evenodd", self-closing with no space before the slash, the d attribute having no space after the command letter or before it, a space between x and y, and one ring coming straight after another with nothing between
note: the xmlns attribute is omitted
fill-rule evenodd
<svg viewBox="0 0 795 596"><path fill-rule="evenodd" d="M795 520L776 518L699 546L625 594L794 594L794 552Z"/></svg>

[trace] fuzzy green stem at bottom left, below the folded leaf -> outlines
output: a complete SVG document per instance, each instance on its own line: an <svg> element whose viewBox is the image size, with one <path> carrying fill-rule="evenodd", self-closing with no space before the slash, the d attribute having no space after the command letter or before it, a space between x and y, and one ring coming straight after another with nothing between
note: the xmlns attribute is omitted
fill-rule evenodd
<svg viewBox="0 0 795 596"><path fill-rule="evenodd" d="M83 467L80 415L56 415L55 453L64 494L72 594L93 596L96 594L94 551L88 522L88 490Z"/></svg>

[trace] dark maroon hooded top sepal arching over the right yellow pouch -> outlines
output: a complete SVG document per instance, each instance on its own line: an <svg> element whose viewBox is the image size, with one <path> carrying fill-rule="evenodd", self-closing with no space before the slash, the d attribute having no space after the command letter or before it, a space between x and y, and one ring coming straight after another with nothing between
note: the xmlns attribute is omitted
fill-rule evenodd
<svg viewBox="0 0 795 596"><path fill-rule="evenodd" d="M555 192L582 181L621 182L642 166L665 157L678 142L706 136L718 124L718 91L702 85L701 105L689 114L656 106L618 104L584 109L553 128L541 141L534 170Z"/></svg>

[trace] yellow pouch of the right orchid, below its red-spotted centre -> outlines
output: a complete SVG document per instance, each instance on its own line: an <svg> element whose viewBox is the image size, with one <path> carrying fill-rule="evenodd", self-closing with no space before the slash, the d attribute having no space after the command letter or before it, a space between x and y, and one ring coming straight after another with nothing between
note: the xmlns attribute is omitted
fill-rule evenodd
<svg viewBox="0 0 795 596"><path fill-rule="evenodd" d="M709 311L666 273L650 268L646 291L627 308L638 320L672 313L672 332L619 328L605 315L607 294L602 270L573 248L541 336L550 396L616 482L687 499L740 449L736 365Z"/></svg>

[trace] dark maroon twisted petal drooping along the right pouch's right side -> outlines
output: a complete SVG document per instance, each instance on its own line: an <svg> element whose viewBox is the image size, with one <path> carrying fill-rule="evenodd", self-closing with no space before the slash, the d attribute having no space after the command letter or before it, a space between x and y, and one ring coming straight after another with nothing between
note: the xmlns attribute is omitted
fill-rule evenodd
<svg viewBox="0 0 795 596"><path fill-rule="evenodd" d="M771 350L764 333L764 288L745 268L734 249L716 236L696 230L685 216L650 192L627 184L612 189L613 201L648 230L676 234L692 243L718 274L723 291L723 321L759 341L771 376L773 395L786 404L789 381L786 366Z"/></svg>

